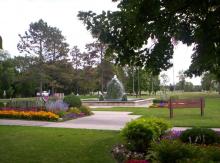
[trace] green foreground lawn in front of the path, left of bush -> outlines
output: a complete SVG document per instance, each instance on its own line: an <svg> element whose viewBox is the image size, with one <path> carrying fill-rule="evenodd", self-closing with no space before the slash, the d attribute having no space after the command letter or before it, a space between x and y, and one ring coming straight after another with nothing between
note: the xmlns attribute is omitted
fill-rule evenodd
<svg viewBox="0 0 220 163"><path fill-rule="evenodd" d="M0 126L0 162L111 163L119 132Z"/></svg>

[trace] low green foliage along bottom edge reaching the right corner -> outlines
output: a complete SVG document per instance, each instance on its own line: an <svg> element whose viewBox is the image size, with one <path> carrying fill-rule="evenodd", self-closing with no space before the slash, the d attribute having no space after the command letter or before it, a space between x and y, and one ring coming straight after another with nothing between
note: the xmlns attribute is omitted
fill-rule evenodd
<svg viewBox="0 0 220 163"><path fill-rule="evenodd" d="M180 141L162 140L152 144L147 159L160 163L219 162L220 149L215 146L198 146Z"/></svg>

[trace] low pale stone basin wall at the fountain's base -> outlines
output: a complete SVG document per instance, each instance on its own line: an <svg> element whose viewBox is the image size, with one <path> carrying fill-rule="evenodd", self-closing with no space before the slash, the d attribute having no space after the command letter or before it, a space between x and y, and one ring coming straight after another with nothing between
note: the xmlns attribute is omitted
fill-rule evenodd
<svg viewBox="0 0 220 163"><path fill-rule="evenodd" d="M82 100L82 104L90 107L149 107L153 104L154 98L148 99L128 99L128 101L107 100L98 101L91 99Z"/></svg>

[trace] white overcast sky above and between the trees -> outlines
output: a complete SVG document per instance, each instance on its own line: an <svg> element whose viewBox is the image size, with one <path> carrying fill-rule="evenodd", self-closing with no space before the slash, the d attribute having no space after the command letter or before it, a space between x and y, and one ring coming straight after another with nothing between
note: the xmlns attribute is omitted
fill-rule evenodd
<svg viewBox="0 0 220 163"><path fill-rule="evenodd" d="M111 0L0 0L0 35L3 48L13 55L20 55L17 50L18 34L24 34L31 22L43 19L50 26L59 28L70 46L80 49L93 39L85 26L77 18L78 11L116 10L117 5ZM173 68L165 72L170 83L178 81L178 72L186 70L191 62L192 47L179 44L174 50ZM200 78L187 79L193 84L200 84Z"/></svg>

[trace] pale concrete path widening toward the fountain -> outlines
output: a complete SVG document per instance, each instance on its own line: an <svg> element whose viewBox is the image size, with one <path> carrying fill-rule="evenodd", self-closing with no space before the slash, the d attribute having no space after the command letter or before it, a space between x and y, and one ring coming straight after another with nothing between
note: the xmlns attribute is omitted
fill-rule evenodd
<svg viewBox="0 0 220 163"><path fill-rule="evenodd" d="M120 130L127 122L140 117L139 115L129 115L131 112L93 111L93 113L92 116L65 122L0 119L0 125Z"/></svg>

